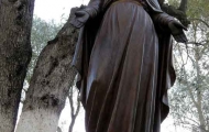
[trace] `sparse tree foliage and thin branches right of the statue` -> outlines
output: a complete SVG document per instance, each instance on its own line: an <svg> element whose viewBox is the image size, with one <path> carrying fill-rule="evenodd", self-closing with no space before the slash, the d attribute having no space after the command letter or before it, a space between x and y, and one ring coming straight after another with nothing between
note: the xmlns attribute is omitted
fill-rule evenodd
<svg viewBox="0 0 209 132"><path fill-rule="evenodd" d="M177 81L170 90L175 123L193 132L209 132L209 6L207 0L189 0L189 42L175 44Z"/></svg>

